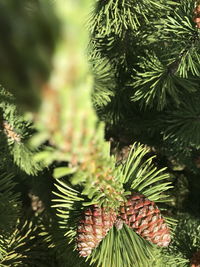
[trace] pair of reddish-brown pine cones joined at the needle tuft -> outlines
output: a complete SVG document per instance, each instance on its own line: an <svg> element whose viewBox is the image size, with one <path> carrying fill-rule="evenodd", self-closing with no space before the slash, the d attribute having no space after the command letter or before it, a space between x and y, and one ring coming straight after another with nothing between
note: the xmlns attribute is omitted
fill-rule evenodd
<svg viewBox="0 0 200 267"><path fill-rule="evenodd" d="M123 223L138 235L160 247L170 243L170 231L153 201L144 195L133 193L121 205L118 216L115 211L93 205L83 214L77 229L77 250L87 257L115 224L121 229Z"/></svg>

